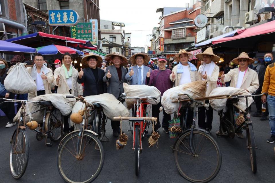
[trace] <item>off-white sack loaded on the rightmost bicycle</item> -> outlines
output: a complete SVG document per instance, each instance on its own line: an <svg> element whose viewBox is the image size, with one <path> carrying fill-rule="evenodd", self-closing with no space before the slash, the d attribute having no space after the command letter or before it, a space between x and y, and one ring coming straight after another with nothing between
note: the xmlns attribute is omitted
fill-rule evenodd
<svg viewBox="0 0 275 183"><path fill-rule="evenodd" d="M212 92L209 94L209 96L233 95L233 94L240 94L240 93L242 93L242 95L251 95L245 89L241 89L241 88L217 87L217 88L212 90ZM209 100L209 103L215 111L220 111L220 110L223 110L223 108L225 108L226 101L227 101L227 98L213 99L213 100ZM248 97L247 101L248 101L248 106L250 106L253 103L254 100L252 99L252 97ZM243 110L246 109L246 100L245 100L245 98L239 98L238 106L240 106L241 109L243 109Z"/></svg>

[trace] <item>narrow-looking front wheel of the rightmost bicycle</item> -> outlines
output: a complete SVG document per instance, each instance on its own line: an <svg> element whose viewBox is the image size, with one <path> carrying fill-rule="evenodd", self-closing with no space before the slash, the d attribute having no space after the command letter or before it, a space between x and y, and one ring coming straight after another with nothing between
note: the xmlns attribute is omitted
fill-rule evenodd
<svg viewBox="0 0 275 183"><path fill-rule="evenodd" d="M248 132L246 132L247 138L247 149L249 150L250 162L251 162L251 169L254 174L257 172L257 161L256 161L256 143L253 133L252 124L247 124Z"/></svg>

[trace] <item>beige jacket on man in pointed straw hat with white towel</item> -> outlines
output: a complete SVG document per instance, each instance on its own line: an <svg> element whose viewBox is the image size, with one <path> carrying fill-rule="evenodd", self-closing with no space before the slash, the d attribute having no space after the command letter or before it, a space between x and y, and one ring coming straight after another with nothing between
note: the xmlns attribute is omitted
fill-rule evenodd
<svg viewBox="0 0 275 183"><path fill-rule="evenodd" d="M198 71L198 81L202 80L202 73L201 68L199 68ZM207 81L207 90L206 90L206 94L205 96L209 96L210 92L212 92L213 89L217 88L217 81L218 81L218 77L219 77L219 72L220 72L220 68L219 66L215 65L214 70L211 74L211 76L207 75L206 81Z"/></svg>

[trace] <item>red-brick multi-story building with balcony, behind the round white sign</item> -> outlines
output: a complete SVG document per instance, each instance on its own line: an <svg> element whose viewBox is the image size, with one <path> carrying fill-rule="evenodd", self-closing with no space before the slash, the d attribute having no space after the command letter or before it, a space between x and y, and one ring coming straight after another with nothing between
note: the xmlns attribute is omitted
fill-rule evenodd
<svg viewBox="0 0 275 183"><path fill-rule="evenodd" d="M166 54L169 58L180 49L188 48L195 42L194 19L200 14L200 7L188 7L189 3L186 6L186 8L168 14L165 14L165 7L157 9L157 12L161 12L162 15L160 27L153 29L155 46L151 45L151 50L155 50L156 54Z"/></svg>

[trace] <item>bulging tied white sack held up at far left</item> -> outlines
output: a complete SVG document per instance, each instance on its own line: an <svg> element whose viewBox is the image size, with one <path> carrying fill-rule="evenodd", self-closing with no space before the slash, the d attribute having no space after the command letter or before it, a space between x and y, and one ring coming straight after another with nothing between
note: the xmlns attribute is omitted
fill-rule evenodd
<svg viewBox="0 0 275 183"><path fill-rule="evenodd" d="M27 72L26 63L13 65L4 80L5 88L15 94L27 94L36 91L36 84Z"/></svg>

